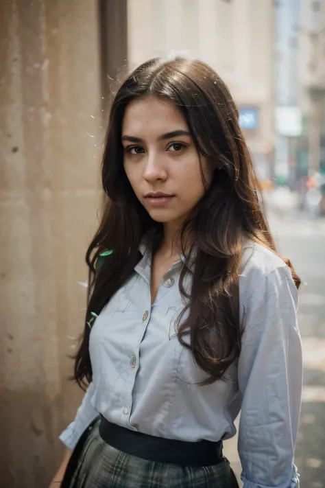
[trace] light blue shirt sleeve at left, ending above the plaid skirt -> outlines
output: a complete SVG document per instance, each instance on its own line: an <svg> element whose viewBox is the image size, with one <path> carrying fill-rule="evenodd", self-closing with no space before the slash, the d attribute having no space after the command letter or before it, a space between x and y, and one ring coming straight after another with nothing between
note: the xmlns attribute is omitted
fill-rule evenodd
<svg viewBox="0 0 325 488"><path fill-rule="evenodd" d="M97 410L95 410L95 408L93 408L91 405L93 391L94 384L91 382L91 384L88 386L86 394L84 395L82 404L77 410L74 421L70 423L62 434L60 434L60 440L69 449L75 448L75 445L77 444L77 441L79 441L84 430L86 430L89 424L99 416Z"/></svg>

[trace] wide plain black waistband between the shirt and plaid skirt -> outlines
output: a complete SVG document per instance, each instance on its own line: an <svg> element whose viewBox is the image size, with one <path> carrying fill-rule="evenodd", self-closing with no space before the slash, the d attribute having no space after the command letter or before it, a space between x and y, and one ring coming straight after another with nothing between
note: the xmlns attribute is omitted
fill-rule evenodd
<svg viewBox="0 0 325 488"><path fill-rule="evenodd" d="M99 434L119 451L147 461L184 466L208 466L223 461L222 441L186 442L142 434L101 417Z"/></svg>

